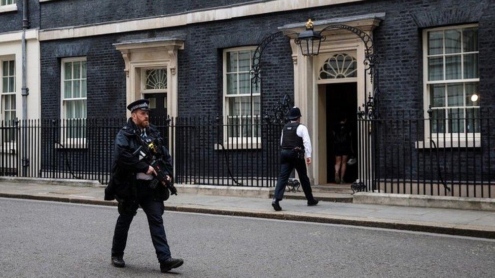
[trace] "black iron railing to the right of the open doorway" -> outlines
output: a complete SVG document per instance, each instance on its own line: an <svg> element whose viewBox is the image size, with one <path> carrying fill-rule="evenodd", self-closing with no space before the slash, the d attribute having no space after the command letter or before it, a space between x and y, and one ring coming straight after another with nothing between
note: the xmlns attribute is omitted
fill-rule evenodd
<svg viewBox="0 0 495 278"><path fill-rule="evenodd" d="M451 116L462 112L358 120L360 181L387 193L495 197L495 116Z"/></svg>

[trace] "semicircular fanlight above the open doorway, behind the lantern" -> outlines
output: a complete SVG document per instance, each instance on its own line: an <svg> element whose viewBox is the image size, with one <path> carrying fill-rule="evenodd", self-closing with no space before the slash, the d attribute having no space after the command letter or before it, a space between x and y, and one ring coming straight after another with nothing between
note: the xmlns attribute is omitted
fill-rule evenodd
<svg viewBox="0 0 495 278"><path fill-rule="evenodd" d="M356 58L347 54L335 54L320 69L319 80L350 78L358 76Z"/></svg>

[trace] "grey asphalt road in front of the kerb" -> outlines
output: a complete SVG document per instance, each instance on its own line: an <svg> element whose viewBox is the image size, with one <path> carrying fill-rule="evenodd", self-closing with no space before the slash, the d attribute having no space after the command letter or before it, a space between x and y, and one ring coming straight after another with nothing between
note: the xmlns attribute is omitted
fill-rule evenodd
<svg viewBox="0 0 495 278"><path fill-rule="evenodd" d="M160 273L143 211L126 267L110 264L114 207L0 198L5 277L493 277L495 241L405 231L165 212L172 256Z"/></svg>

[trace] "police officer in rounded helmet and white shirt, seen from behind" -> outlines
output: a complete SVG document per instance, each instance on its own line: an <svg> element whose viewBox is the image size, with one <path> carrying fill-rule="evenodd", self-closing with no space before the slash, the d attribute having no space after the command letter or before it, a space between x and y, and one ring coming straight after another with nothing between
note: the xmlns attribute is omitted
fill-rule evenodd
<svg viewBox="0 0 495 278"><path fill-rule="evenodd" d="M284 196L284 191L289 180L289 176L294 168L296 169L304 195L308 200L308 206L315 206L318 200L313 197L311 185L307 174L306 165L311 164L311 140L309 139L308 129L301 124L301 110L293 107L289 110L287 118L290 123L282 129L280 137L280 175L278 176L277 185L275 186L275 195L272 206L275 211L280 211L279 202Z"/></svg>

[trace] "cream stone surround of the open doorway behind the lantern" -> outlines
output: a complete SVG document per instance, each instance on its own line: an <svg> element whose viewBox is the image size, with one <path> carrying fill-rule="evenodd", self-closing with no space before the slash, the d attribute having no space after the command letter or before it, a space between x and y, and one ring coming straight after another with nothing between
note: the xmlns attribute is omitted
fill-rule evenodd
<svg viewBox="0 0 495 278"><path fill-rule="evenodd" d="M314 29L321 30L330 24L346 24L358 27L372 37L373 29L381 21L380 17L384 14L362 16L359 19L345 21L344 18L337 20L315 21ZM300 27L281 29L290 29L296 32L303 30L303 23L294 24ZM301 122L308 127L311 143L313 146L312 161L308 166L308 176L312 184L326 184L327 171L327 154L326 154L326 132L324 113L325 109L325 91L319 91L319 85L329 83L328 81L318 81L317 76L323 63L336 53L355 54L358 66L358 76L355 78L358 88L358 106L363 104L365 97L370 92L372 86L369 75L366 74L365 81L365 45L356 34L348 31L335 29L325 32L326 40L322 42L320 54L314 57L305 57L301 49L291 38L292 59L294 63L294 103L301 108ZM289 35L290 36L290 35ZM348 78L346 78L348 79ZM332 82L339 82L338 80ZM342 80L340 82L349 82ZM365 92L365 82L366 90ZM322 88L322 87L320 87ZM356 107L357 111L358 107Z"/></svg>

